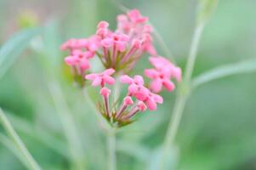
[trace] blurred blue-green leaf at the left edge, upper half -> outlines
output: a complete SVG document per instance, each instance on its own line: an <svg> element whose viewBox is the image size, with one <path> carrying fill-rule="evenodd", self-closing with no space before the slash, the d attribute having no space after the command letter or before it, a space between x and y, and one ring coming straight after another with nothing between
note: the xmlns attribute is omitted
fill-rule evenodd
<svg viewBox="0 0 256 170"><path fill-rule="evenodd" d="M40 28L19 31L0 48L0 78L3 77L14 60L26 49L31 39L40 33Z"/></svg>

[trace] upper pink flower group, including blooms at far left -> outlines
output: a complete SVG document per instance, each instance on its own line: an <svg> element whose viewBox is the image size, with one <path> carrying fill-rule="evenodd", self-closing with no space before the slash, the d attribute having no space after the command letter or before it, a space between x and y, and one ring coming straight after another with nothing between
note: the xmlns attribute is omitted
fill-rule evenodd
<svg viewBox="0 0 256 170"><path fill-rule="evenodd" d="M70 52L65 63L83 77L90 68L89 60L97 55L106 69L129 71L145 52L156 55L147 20L134 9L117 16L116 31L109 29L108 22L100 21L92 37L70 39L61 45Z"/></svg>

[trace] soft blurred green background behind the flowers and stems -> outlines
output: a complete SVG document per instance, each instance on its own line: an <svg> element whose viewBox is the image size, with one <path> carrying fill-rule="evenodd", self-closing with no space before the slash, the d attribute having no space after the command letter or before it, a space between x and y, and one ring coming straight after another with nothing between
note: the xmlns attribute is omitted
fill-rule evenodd
<svg viewBox="0 0 256 170"><path fill-rule="evenodd" d="M196 0L117 2L149 16L178 65L185 67L195 27ZM202 35L194 77L219 65L256 57L255 7L255 0L219 1ZM59 47L68 38L93 34L100 20L115 28L116 15L121 13L116 3L108 0L0 0L0 45L23 28L45 28L43 36L32 40L30 48L0 80L0 106L43 169L72 168L60 122L63 113L58 113L67 108L55 109L52 97L56 94L48 89L52 82L60 85L61 94L56 93L74 118L84 163L88 169L106 169L105 134L81 91L72 86L63 64L65 54ZM165 55L156 46L159 54ZM134 73L149 66L146 58ZM175 140L174 169L256 169L255 76L225 77L193 91ZM97 94L90 92L97 99ZM154 157L164 139L176 94L162 95L164 104L157 111L147 111L118 133L118 169L156 169ZM0 132L4 133L2 127ZM3 143L0 138L0 169L26 169Z"/></svg>

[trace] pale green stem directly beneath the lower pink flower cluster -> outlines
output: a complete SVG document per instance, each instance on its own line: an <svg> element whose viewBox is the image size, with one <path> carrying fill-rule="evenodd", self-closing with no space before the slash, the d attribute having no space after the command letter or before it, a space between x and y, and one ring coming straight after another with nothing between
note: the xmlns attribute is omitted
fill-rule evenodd
<svg viewBox="0 0 256 170"><path fill-rule="evenodd" d="M108 152L109 152L109 170L117 169L116 157L116 129L111 127L107 133L108 137Z"/></svg>

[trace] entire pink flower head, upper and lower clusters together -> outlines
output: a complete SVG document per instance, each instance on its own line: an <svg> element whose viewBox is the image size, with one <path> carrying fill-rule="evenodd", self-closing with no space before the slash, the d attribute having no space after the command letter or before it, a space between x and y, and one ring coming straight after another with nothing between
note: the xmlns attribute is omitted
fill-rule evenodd
<svg viewBox="0 0 256 170"><path fill-rule="evenodd" d="M147 24L148 18L134 9L127 14L117 16L117 30L111 31L106 21L100 21L97 31L92 37L70 39L61 49L69 50L65 63L71 66L75 77L92 82L92 86L100 86L102 101L100 112L111 122L121 127L132 121L132 117L145 110L155 111L157 104L163 99L158 94L162 87L169 92L174 90L175 78L181 79L181 70L168 59L158 56L152 43L152 28ZM134 67L143 54L150 54L152 69L145 69L145 76L152 81L146 85L144 78L136 75L129 77L128 72ZM89 73L90 59L98 56L105 71ZM111 86L116 82L114 73L121 73L118 81L128 85L128 92L120 105L113 101L111 105ZM120 75L120 74L119 74Z"/></svg>

